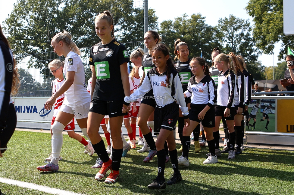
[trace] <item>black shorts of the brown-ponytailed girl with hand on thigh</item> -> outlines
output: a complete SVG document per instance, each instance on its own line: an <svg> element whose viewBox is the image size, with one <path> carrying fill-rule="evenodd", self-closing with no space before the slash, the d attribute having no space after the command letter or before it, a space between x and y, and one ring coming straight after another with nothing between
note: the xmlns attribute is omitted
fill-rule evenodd
<svg viewBox="0 0 294 195"><path fill-rule="evenodd" d="M189 110L189 119L196 122L201 122L203 127L212 128L215 126L215 111L214 107L210 108L205 116L204 119L199 120L198 114L206 107L207 104L191 104L191 109Z"/></svg>

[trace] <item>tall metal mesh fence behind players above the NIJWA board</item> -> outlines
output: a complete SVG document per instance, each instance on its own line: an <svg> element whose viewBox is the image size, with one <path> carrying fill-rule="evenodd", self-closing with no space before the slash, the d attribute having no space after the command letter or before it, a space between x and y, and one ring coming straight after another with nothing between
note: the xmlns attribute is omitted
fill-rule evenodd
<svg viewBox="0 0 294 195"><path fill-rule="evenodd" d="M143 41L123 43L130 53L139 47L144 48ZM80 58L84 64L86 84L91 78L92 72L89 67L89 53L91 47L80 48ZM52 95L51 82L55 77L49 72L48 63L58 59L58 55L52 52L34 53L29 55L15 56L19 68L20 88L17 96L24 97L48 97ZM64 60L64 57L62 58ZM129 69L132 68L131 63Z"/></svg>

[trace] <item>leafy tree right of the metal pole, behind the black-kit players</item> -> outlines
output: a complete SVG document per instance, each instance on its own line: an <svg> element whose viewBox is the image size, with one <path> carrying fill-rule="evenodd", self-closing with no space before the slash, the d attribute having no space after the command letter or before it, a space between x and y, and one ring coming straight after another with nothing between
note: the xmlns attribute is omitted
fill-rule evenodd
<svg viewBox="0 0 294 195"><path fill-rule="evenodd" d="M201 14L192 14L190 18L183 14L175 18L175 21L165 20L161 22L159 34L162 40L170 48L170 53L174 56L174 42L177 38L188 44L191 57L202 55L208 61L211 59L211 51L214 47L220 47L217 38L217 29L205 24L205 17Z"/></svg>

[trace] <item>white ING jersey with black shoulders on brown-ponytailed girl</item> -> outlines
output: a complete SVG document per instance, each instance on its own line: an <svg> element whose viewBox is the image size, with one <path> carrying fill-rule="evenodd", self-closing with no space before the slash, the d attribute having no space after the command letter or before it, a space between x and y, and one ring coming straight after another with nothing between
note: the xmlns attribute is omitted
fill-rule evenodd
<svg viewBox="0 0 294 195"><path fill-rule="evenodd" d="M209 107L213 107L217 101L217 88L209 75L205 75L199 83L195 81L195 76L191 77L188 89L184 93L187 97L192 95L192 104L207 104Z"/></svg>

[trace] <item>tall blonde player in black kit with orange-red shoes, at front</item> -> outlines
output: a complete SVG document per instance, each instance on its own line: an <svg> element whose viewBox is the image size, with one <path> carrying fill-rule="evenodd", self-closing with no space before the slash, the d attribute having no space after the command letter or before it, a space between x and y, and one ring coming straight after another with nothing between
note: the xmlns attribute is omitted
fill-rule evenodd
<svg viewBox="0 0 294 195"><path fill-rule="evenodd" d="M103 165L95 179L101 180L108 170L112 170L105 183L115 183L119 179L119 168L123 153L123 142L120 136L125 113L122 106L124 96L130 95L127 63L129 56L126 48L115 40L113 18L109 11L100 13L95 18L95 31L101 42L92 46L89 64L95 67L92 75L92 102L89 110L87 133L93 148L102 160ZM112 138L112 161L109 159L104 142L97 127L105 115L109 115Z"/></svg>

